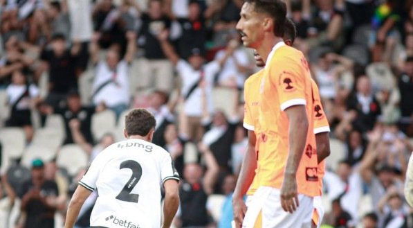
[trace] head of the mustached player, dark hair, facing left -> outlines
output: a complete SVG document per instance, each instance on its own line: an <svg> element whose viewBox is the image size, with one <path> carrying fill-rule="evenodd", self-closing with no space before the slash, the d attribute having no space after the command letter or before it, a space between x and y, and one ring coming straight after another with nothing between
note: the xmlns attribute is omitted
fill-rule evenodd
<svg viewBox="0 0 413 228"><path fill-rule="evenodd" d="M265 35L284 35L286 4L281 0L246 0L240 15L237 30L244 46L257 49Z"/></svg>

